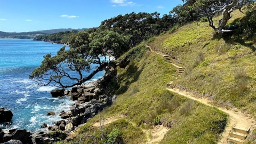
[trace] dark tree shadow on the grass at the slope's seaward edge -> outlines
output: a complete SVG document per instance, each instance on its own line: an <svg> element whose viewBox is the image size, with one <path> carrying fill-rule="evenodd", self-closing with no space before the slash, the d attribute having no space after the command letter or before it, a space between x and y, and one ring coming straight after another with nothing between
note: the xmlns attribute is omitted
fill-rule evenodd
<svg viewBox="0 0 256 144"><path fill-rule="evenodd" d="M116 91L116 94L125 93L132 83L138 81L142 71L143 67L139 70L139 68L135 66L135 63L131 62L130 65L126 67L126 72L122 75L119 75L119 81L123 81L125 84L119 87L119 89Z"/></svg>

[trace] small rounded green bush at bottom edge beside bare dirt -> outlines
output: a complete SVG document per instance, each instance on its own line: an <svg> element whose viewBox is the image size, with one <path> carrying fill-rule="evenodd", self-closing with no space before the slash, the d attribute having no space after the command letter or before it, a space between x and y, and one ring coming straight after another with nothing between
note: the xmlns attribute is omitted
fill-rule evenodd
<svg viewBox="0 0 256 144"><path fill-rule="evenodd" d="M123 143L122 141L123 141L122 133L116 127L114 127L113 130L107 135L106 143L117 144L117 143Z"/></svg>

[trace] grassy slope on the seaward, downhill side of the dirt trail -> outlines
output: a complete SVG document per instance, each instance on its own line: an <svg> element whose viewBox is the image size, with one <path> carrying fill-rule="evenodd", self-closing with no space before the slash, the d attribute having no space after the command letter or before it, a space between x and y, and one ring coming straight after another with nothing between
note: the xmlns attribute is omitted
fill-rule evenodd
<svg viewBox="0 0 256 144"><path fill-rule="evenodd" d="M166 84L178 77L175 67L161 55L147 52L145 44L122 58L132 61L126 68L117 68L116 101L82 127L76 142L99 143L102 130L103 141L108 143L114 138L123 143L146 143L153 139L148 131L163 124L170 130L161 143L217 143L227 115L165 90ZM105 125L105 129L92 126L102 118L118 120Z"/></svg>

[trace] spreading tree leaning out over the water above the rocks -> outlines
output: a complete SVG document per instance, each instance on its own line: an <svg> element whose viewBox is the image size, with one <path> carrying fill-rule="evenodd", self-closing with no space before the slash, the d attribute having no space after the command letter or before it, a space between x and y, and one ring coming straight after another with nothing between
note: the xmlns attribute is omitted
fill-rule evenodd
<svg viewBox="0 0 256 144"><path fill-rule="evenodd" d="M124 36L109 30L95 33L92 37L85 31L79 32L70 38L69 46L69 50L65 50L65 46L61 47L53 57L51 53L46 54L42 64L29 78L38 85L52 83L62 89L81 85L106 67L115 67L112 59L108 59L109 56L118 58L129 49ZM92 64L97 64L93 70ZM90 74L85 77L84 71ZM67 84L67 79L74 83Z"/></svg>

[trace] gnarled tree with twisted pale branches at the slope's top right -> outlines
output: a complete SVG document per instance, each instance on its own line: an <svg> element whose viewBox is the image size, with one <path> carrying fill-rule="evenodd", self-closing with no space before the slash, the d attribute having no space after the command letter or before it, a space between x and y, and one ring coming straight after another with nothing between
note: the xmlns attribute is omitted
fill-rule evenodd
<svg viewBox="0 0 256 144"><path fill-rule="evenodd" d="M238 9L241 11L241 8L246 4L252 4L255 0L182 0L193 7L198 7L204 13L204 16L207 17L209 21L209 26L214 30L217 30L218 33L223 33L225 31L231 31L232 27L226 28L228 20L231 18L231 13ZM218 24L215 25L213 22L213 17L221 13L222 18L219 20Z"/></svg>

